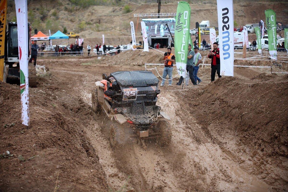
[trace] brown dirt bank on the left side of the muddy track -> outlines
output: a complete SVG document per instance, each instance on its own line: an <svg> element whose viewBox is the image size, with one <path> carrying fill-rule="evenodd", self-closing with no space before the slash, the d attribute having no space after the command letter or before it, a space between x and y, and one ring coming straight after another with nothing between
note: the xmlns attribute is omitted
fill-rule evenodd
<svg viewBox="0 0 288 192"><path fill-rule="evenodd" d="M54 100L53 90L34 93L29 98L31 126L27 128L19 120L19 86L0 82L0 152L5 153L0 158L0 191L54 191L56 183L61 191L85 191L86 183L92 183L93 191L108 191L79 117ZM86 111L88 106L81 107Z"/></svg>

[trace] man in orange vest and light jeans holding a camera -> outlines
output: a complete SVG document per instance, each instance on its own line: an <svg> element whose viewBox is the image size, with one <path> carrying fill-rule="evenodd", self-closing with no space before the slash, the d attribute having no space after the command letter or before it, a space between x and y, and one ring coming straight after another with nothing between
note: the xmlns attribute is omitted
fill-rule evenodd
<svg viewBox="0 0 288 192"><path fill-rule="evenodd" d="M160 87L164 86L166 76L169 77L169 84L168 86L172 86L172 70L173 70L173 62L175 62L175 55L171 53L171 47L167 48L167 52L164 53L163 60L165 60L164 71L162 76L162 83Z"/></svg>

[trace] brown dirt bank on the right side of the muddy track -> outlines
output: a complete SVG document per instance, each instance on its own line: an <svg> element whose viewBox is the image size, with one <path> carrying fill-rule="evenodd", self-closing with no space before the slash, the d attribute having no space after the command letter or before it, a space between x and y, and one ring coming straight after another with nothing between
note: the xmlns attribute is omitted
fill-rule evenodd
<svg viewBox="0 0 288 192"><path fill-rule="evenodd" d="M287 185L288 75L261 73L249 81L219 78L180 101L190 106L206 134L230 151L249 173L268 184ZM286 162L286 163L285 163ZM285 184L286 183L286 184Z"/></svg>

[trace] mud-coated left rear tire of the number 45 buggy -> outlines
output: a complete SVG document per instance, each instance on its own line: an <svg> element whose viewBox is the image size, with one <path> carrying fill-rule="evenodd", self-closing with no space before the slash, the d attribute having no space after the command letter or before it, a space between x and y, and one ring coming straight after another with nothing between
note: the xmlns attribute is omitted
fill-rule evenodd
<svg viewBox="0 0 288 192"><path fill-rule="evenodd" d="M119 123L113 123L110 127L110 144L112 147L125 145L128 142L129 134L126 128Z"/></svg>

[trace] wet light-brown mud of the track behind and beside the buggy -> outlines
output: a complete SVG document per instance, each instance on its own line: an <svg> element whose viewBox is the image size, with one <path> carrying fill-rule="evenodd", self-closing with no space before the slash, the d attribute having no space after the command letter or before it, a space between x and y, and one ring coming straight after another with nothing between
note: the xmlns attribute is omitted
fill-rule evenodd
<svg viewBox="0 0 288 192"><path fill-rule="evenodd" d="M162 91L162 90L161 90ZM83 100L91 105L89 92ZM229 151L210 141L189 111L183 111L175 95L163 90L158 105L169 114L173 137L167 147L153 142L145 150L134 142L112 149L108 139L109 123L103 115L87 127L93 147L100 158L108 183L120 189L131 176L129 187L135 191L268 191L268 185L239 167Z"/></svg>

